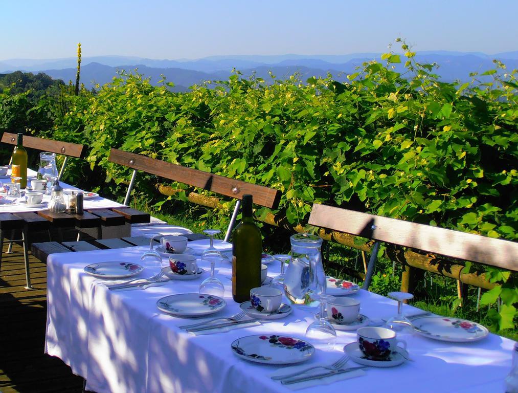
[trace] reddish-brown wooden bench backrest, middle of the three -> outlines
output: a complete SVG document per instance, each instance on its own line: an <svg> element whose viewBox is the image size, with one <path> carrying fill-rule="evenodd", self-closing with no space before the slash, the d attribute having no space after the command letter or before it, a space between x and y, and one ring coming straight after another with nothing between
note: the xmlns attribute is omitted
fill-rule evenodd
<svg viewBox="0 0 518 393"><path fill-rule="evenodd" d="M257 205L274 209L279 205L281 192L273 188L198 171L119 149L111 149L110 158L108 160L138 171L179 181L180 183L217 192L236 199L242 199L244 194L251 194L253 195L253 202Z"/></svg>

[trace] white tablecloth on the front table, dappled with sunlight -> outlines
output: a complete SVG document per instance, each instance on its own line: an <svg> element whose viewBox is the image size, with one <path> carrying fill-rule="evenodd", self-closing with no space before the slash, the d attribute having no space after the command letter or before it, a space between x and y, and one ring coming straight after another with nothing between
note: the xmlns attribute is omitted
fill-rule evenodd
<svg viewBox="0 0 518 393"><path fill-rule="evenodd" d="M308 310L295 308L290 316L264 325L194 336L177 327L188 324L188 319L162 314L155 303L168 294L197 292L200 279L114 292L107 289L103 280L83 272L83 267L92 262L139 263L145 249L49 256L46 353L63 359L75 374L87 379L87 389L97 392L291 391L268 377L277 367L244 361L231 352L230 345L250 334L280 333L304 338L313 320ZM279 266L270 264L269 269L278 272ZM157 271L158 268L147 268L141 276L151 276ZM228 304L219 315L233 315L239 307L232 300L228 279L231 266L219 266L218 271L225 284ZM370 318L389 317L396 310L394 301L371 292L361 290L351 297L361 301L361 313ZM407 314L415 311L418 310L411 306L404 308ZM306 364L332 363L343 354L343 345L353 341L355 332L338 332L335 350L317 349ZM362 393L503 391L503 379L511 366L513 341L490 334L482 341L466 344L421 336L410 336L407 342L413 362L390 369L369 368L364 376L336 382L325 389Z"/></svg>

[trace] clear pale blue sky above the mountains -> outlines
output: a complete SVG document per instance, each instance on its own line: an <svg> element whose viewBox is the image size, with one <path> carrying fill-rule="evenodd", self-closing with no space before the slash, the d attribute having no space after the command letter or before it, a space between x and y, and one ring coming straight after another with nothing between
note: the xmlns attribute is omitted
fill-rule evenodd
<svg viewBox="0 0 518 393"><path fill-rule="evenodd" d="M0 60L134 55L518 50L518 0L10 0L2 2Z"/></svg>

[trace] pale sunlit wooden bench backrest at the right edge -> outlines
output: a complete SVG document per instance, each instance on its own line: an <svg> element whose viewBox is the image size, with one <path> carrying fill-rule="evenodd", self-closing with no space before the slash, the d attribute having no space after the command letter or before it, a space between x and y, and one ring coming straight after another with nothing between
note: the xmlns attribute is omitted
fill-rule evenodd
<svg viewBox="0 0 518 393"><path fill-rule="evenodd" d="M313 204L309 224L451 258L518 270L518 243Z"/></svg>

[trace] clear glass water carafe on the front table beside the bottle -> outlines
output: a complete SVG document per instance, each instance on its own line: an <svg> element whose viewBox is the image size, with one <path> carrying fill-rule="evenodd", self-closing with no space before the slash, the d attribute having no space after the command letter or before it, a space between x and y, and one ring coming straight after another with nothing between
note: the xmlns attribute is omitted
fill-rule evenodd
<svg viewBox="0 0 518 393"><path fill-rule="evenodd" d="M290 237L291 260L284 278L284 292L293 304L316 306L325 292L326 278L320 248L322 238L308 233Z"/></svg>

